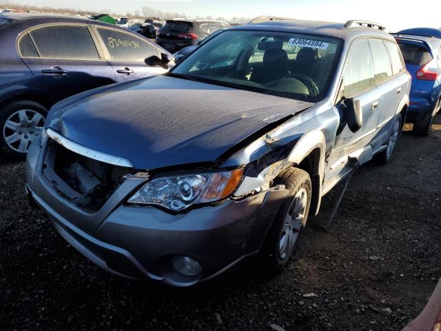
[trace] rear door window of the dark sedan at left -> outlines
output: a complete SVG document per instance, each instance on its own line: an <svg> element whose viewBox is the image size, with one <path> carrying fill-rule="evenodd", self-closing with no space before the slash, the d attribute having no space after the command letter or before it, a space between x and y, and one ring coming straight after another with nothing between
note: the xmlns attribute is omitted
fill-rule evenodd
<svg viewBox="0 0 441 331"><path fill-rule="evenodd" d="M48 26L29 32L40 53L48 59L92 59L99 54L86 26Z"/></svg>

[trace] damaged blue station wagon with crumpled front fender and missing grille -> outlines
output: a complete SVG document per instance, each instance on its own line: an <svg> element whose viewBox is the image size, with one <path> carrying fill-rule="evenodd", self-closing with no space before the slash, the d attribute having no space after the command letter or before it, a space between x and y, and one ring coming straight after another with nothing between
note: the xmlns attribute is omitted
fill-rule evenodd
<svg viewBox="0 0 441 331"><path fill-rule="evenodd" d="M280 271L323 195L391 159L411 77L383 30L260 19L65 99L30 147L30 201L115 274L187 286L257 254Z"/></svg>

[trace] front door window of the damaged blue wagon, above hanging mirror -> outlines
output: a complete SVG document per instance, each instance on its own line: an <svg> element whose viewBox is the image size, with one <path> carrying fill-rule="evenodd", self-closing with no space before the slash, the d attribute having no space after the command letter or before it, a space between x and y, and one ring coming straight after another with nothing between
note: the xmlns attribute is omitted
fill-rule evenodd
<svg viewBox="0 0 441 331"><path fill-rule="evenodd" d="M343 96L353 97L373 85L373 63L369 43L367 39L359 39L352 44L347 55L343 72Z"/></svg>

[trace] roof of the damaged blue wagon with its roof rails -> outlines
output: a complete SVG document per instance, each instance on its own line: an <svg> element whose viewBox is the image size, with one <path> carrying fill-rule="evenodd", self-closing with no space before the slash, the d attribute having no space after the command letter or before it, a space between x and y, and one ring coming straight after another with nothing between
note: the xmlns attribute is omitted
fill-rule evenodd
<svg viewBox="0 0 441 331"><path fill-rule="evenodd" d="M373 26L373 27L369 27ZM391 34L385 32L383 26L377 23L361 20L351 20L346 23L327 21L307 21L289 19L285 17L258 17L242 26L235 26L230 30L271 30L278 32L296 32L303 34L319 34L327 37L336 37L352 40L357 37L381 37L394 40Z"/></svg>

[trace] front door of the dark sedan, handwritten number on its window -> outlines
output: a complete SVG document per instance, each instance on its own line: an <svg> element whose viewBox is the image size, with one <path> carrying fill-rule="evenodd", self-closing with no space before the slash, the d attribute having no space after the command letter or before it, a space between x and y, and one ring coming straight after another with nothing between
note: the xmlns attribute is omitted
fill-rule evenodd
<svg viewBox="0 0 441 331"><path fill-rule="evenodd" d="M107 53L116 82L132 81L167 72L168 68L147 66L145 63L148 57L161 57L161 52L150 41L119 29L101 26L95 26L94 29Z"/></svg>

